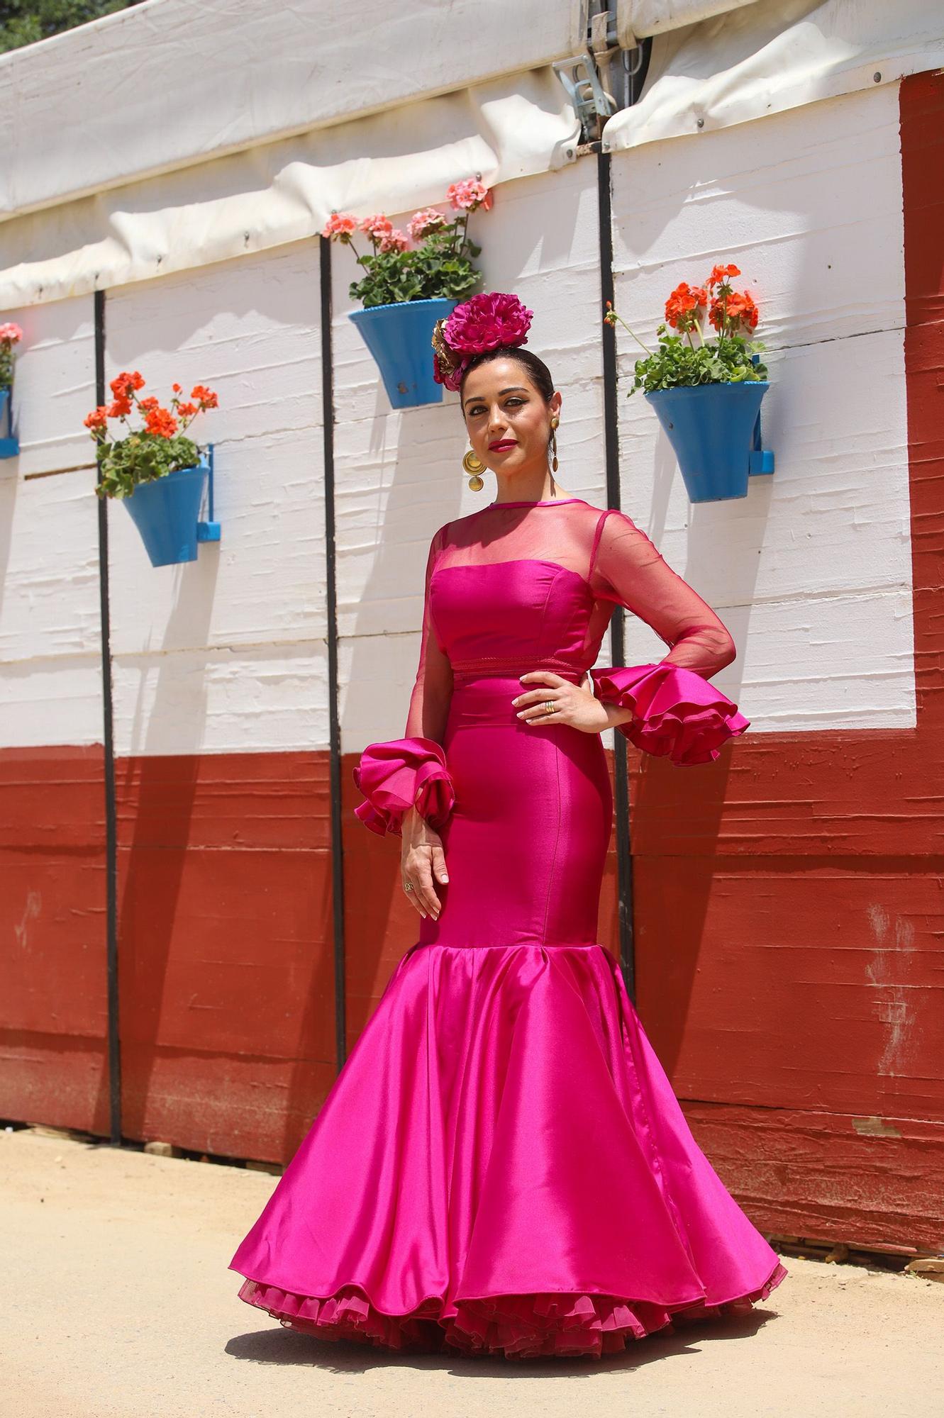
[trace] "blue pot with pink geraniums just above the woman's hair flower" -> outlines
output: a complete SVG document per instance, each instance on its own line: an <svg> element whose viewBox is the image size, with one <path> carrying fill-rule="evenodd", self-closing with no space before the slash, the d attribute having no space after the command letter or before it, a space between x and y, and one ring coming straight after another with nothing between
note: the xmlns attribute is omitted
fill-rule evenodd
<svg viewBox="0 0 944 1418"><path fill-rule="evenodd" d="M387 397L394 408L434 404L442 398L429 357L432 328L452 313L478 285L481 274L472 257L481 247L469 238L469 214L492 207L492 193L478 179L452 183L446 200L458 213L452 220L437 207L415 211L407 228L394 227L378 213L359 221L333 211L322 235L354 250L366 271L352 281L349 294L363 302L350 319L374 356ZM353 234L370 237L371 252L360 255ZM417 242L410 245L410 237Z"/></svg>

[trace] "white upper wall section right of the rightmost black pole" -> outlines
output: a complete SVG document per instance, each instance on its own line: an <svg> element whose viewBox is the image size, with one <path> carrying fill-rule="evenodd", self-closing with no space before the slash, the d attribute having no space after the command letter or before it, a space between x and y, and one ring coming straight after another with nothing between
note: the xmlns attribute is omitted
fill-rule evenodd
<svg viewBox="0 0 944 1418"><path fill-rule="evenodd" d="M624 319L653 345L678 282L733 261L768 346L777 468L744 499L692 506L642 393L619 403L624 509L737 641L714 682L753 733L913 725L897 88L612 163ZM642 352L617 329L628 386Z"/></svg>

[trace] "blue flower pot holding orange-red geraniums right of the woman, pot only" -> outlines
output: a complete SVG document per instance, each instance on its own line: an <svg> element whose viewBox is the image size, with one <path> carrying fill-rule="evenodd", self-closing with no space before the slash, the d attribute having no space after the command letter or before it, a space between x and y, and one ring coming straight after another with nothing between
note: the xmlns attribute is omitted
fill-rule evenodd
<svg viewBox="0 0 944 1418"><path fill-rule="evenodd" d="M666 431L690 502L746 498L751 472L772 472L760 448L760 406L768 380L658 389L645 397Z"/></svg>

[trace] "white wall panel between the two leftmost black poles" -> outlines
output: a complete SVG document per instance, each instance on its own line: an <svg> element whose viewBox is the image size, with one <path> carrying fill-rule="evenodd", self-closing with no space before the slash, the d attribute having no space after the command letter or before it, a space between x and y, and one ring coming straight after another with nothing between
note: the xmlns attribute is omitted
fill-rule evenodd
<svg viewBox="0 0 944 1418"><path fill-rule="evenodd" d="M152 567L109 506L119 754L327 744L319 299L316 241L108 299L108 380L220 396L193 435L215 445L221 542Z"/></svg>

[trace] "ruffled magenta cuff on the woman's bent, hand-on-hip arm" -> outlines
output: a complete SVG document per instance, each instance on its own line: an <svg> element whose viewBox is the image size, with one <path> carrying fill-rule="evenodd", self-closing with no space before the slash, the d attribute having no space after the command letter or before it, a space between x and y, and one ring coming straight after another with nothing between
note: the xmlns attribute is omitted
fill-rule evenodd
<svg viewBox="0 0 944 1418"><path fill-rule="evenodd" d="M717 759L721 744L750 725L727 695L680 665L662 661L590 674L598 699L632 709L632 719L617 725L624 737L678 767Z"/></svg>

